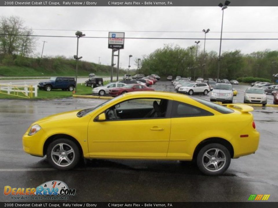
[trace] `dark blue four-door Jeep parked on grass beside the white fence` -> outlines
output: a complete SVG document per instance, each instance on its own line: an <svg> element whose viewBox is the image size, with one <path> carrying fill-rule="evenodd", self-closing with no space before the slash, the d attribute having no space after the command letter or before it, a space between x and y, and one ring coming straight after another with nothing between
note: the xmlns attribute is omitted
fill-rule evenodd
<svg viewBox="0 0 278 208"><path fill-rule="evenodd" d="M52 89L62 89L73 91L75 88L74 77L51 77L47 82L39 82L40 90L51 91Z"/></svg>

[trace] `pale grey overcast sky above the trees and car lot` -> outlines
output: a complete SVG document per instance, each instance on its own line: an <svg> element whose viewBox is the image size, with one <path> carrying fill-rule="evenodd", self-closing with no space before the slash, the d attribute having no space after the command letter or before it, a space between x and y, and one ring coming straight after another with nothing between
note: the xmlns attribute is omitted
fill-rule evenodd
<svg viewBox="0 0 278 208"><path fill-rule="evenodd" d="M123 31L125 37L156 38L204 38L202 29L210 29L207 38L220 38L221 8L215 7L2 7L2 16L19 16L24 25L36 29L36 35L74 36L76 30L86 36L108 37L108 31ZM278 38L277 7L228 7L224 10L222 38ZM72 31L45 31L37 29L66 29ZM104 30L104 31L86 31ZM136 31L136 32L130 32ZM140 32L140 31L189 31L189 32ZM191 32L200 31L200 32ZM230 33L230 32L269 33ZM229 33L228 33L229 32ZM76 54L76 38L38 38L36 53L43 55ZM164 44L173 43L180 47L194 45L195 40L143 40L126 39L125 49L120 51L122 68L136 68L134 59L142 58ZM222 52L241 50L243 53L277 50L278 40L222 40ZM203 50L204 40L201 40ZM219 52L220 40L206 40L206 51ZM79 56L83 60L111 64L111 49L106 38L81 38ZM115 63L117 59L115 57Z"/></svg>

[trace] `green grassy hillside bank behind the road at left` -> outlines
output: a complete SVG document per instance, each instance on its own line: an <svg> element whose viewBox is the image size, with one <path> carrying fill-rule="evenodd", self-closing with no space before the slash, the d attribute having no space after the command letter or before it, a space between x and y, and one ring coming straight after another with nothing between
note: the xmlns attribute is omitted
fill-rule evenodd
<svg viewBox="0 0 278 208"><path fill-rule="evenodd" d="M87 77L89 73L96 76L109 76L111 66L78 61L78 76ZM34 77L34 76L75 76L76 61L65 57L28 58L19 55L0 55L0 76ZM116 68L114 68L116 74ZM125 74L120 70L120 75Z"/></svg>

